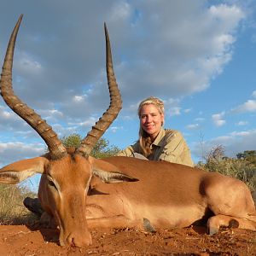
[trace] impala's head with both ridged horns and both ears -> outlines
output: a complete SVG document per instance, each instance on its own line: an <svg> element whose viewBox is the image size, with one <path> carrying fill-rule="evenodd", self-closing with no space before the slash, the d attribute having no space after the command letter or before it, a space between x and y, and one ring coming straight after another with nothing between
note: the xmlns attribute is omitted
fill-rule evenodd
<svg viewBox="0 0 256 256"><path fill-rule="evenodd" d="M79 148L65 148L51 126L32 108L22 102L18 96L15 96L13 91L13 57L21 20L22 15L20 15L9 39L0 80L1 95L9 108L12 108L44 139L49 153L4 166L0 169L0 183L20 183L36 172L42 173L38 196L44 210L54 216L56 224L60 227L60 244L85 247L91 243L85 218L86 195L91 177L95 175L108 183L137 180L120 172L110 172L111 166L110 168L108 166L108 171L103 170L105 169L104 166L99 168L99 164L97 164L100 160L90 157L92 148L117 117L122 105L113 73L108 30L105 25L110 106L84 137Z"/></svg>

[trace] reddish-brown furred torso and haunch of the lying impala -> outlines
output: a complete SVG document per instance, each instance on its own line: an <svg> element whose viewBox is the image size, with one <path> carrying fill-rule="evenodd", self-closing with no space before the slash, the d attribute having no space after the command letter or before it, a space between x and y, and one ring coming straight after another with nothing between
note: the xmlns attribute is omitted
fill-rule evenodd
<svg viewBox="0 0 256 256"><path fill-rule="evenodd" d="M87 204L102 205L109 212L114 208L116 215L124 214L117 209L126 209L125 215L140 219L141 224L143 218L148 218L157 228L184 227L203 218L207 210L214 215L248 219L255 212L250 191L239 180L167 162L125 157L104 161L139 181L105 184L92 180L92 189L103 195L88 196ZM121 202L117 199L121 205L110 204L105 194L117 195L122 199Z"/></svg>

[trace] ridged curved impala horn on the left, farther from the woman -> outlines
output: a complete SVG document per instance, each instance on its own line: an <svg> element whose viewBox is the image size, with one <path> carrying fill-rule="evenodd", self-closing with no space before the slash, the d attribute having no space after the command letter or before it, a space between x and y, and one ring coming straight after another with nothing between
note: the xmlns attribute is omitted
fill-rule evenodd
<svg viewBox="0 0 256 256"><path fill-rule="evenodd" d="M20 15L19 20L16 23L15 29L9 39L8 48L3 62L3 70L0 79L0 90L3 100L15 113L17 113L27 124L31 125L32 128L38 132L40 137L44 139L44 142L49 148L51 157L53 159L59 159L67 154L66 148L58 139L55 131L52 130L44 119L42 119L32 108L26 106L25 103L21 102L20 99L15 96L12 86L12 67L15 51L15 41L17 33L19 31L20 22L22 20Z"/></svg>

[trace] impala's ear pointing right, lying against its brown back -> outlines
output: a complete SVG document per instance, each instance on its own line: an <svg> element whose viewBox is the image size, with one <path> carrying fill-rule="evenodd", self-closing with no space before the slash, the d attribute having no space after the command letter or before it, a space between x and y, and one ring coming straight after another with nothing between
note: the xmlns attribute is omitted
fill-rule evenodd
<svg viewBox="0 0 256 256"><path fill-rule="evenodd" d="M99 177L104 183L122 183L122 182L136 182L136 177L131 177L120 172L106 172L100 169L93 169L92 174Z"/></svg>

